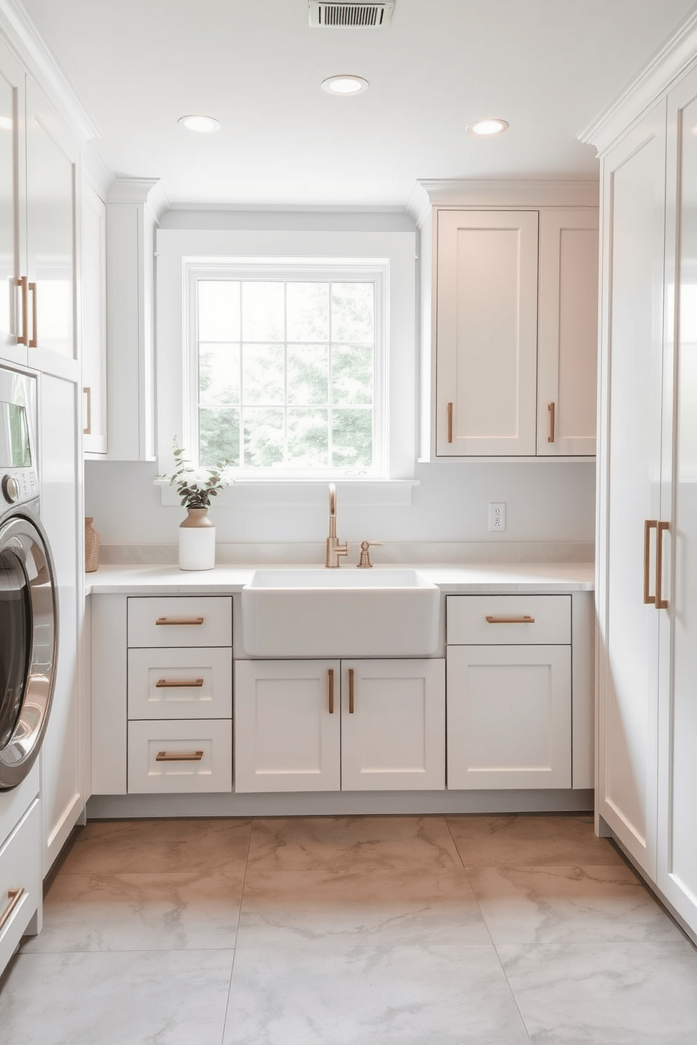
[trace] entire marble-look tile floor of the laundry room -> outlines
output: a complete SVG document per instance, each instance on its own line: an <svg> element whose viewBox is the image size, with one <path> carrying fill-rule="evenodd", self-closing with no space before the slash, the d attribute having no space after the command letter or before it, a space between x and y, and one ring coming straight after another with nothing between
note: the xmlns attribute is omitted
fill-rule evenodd
<svg viewBox="0 0 697 1045"><path fill-rule="evenodd" d="M13 1045L696 1045L697 951L589 816L91 822Z"/></svg>

